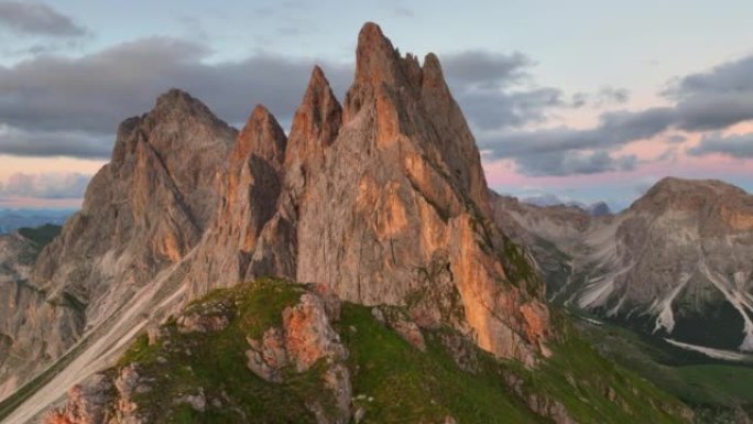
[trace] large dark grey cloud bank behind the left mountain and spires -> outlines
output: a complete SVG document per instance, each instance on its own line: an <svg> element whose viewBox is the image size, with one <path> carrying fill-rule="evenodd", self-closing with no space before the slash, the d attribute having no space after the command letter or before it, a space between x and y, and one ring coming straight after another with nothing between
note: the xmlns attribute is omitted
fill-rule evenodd
<svg viewBox="0 0 753 424"><path fill-rule="evenodd" d="M244 122L257 104L285 121L316 62L259 54L209 64L209 54L201 44L152 37L78 58L42 55L0 67L0 152L108 157L117 124L151 109L171 87L231 123ZM321 65L343 93L352 67Z"/></svg>

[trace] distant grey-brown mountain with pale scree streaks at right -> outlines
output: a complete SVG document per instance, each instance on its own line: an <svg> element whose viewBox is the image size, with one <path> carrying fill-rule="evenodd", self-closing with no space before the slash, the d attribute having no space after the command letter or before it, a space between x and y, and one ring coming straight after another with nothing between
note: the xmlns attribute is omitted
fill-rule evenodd
<svg viewBox="0 0 753 424"><path fill-rule="evenodd" d="M719 181L665 178L616 216L498 198L532 246L556 302L647 333L753 350L753 196Z"/></svg>

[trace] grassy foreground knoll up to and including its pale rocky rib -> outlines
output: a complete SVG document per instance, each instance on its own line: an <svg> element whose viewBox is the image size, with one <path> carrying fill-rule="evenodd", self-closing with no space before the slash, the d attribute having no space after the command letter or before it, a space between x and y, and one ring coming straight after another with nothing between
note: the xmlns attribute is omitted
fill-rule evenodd
<svg viewBox="0 0 753 424"><path fill-rule="evenodd" d="M275 305L270 306L265 317L264 313L249 308L258 302L255 296ZM288 302L277 304L276 297ZM301 404L290 406L294 412L303 407L296 412L305 414L299 418L347 424L351 417L352 387L348 349L332 327L338 314L339 300L321 286L271 281L241 284L193 304L175 320L152 331L143 350L132 350L134 360L75 385L68 391L66 403L48 411L42 422L172 422L181 409L188 409L189 414L225 413L226 420L230 420L225 422L245 422L249 417L243 411L250 405L243 403L248 402L244 390L294 388L296 396L292 399ZM273 324L276 322L280 324ZM261 337L251 335L260 330ZM248 370L242 368L243 357L248 359ZM216 361L225 361L226 366L237 361L229 367L241 387L208 378ZM251 372L276 388L260 388ZM262 395L259 401L281 400Z"/></svg>

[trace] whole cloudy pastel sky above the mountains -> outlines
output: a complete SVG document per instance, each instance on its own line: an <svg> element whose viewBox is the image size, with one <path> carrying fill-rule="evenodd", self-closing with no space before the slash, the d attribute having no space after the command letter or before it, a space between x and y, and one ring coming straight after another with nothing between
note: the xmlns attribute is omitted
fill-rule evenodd
<svg viewBox="0 0 753 424"><path fill-rule="evenodd" d="M80 204L114 129L178 87L290 122L358 30L439 55L492 188L630 205L666 175L753 192L753 2L0 0L0 207Z"/></svg>

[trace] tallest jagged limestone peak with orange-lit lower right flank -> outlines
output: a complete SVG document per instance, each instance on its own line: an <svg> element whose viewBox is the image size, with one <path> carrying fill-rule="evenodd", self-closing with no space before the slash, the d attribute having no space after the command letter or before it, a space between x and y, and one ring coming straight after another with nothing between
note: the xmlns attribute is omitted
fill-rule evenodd
<svg viewBox="0 0 753 424"><path fill-rule="evenodd" d="M338 137L306 182L296 279L408 304L424 325L452 323L484 349L527 357L548 330L543 291L505 269L479 152L437 57L400 57L367 24L356 66Z"/></svg>

